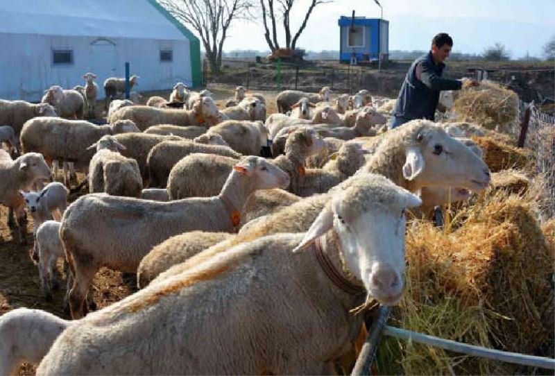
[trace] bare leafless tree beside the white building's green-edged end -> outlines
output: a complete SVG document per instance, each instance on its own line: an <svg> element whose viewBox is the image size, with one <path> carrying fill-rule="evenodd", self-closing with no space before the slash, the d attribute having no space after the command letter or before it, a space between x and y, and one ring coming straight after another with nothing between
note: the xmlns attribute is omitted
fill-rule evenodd
<svg viewBox="0 0 555 376"><path fill-rule="evenodd" d="M255 0L158 0L203 42L210 70L221 70L223 43L234 19L249 18Z"/></svg>

